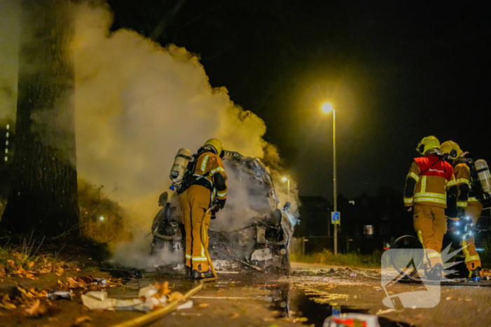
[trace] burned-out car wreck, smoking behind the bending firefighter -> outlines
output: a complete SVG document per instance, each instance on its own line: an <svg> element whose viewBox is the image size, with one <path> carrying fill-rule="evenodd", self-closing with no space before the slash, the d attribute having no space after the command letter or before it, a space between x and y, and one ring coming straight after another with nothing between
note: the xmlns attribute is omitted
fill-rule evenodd
<svg viewBox="0 0 491 327"><path fill-rule="evenodd" d="M287 214L289 203L280 208L271 175L259 159L226 151L223 162L229 176L227 204L210 221L208 230L215 269L246 265L255 270L288 272L288 244L293 233ZM179 197L168 199L163 193L159 204L162 209L152 224L152 254L162 258L162 265L168 265L166 257L176 255L182 256L180 263L184 263Z"/></svg>

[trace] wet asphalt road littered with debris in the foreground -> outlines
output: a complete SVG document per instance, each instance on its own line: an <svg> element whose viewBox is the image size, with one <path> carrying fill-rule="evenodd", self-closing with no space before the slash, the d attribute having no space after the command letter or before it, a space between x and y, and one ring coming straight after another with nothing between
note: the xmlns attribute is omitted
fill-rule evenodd
<svg viewBox="0 0 491 327"><path fill-rule="evenodd" d="M354 274L356 277L350 277ZM182 293L195 285L187 279L145 274L124 287L111 288L109 295L136 295L140 287L165 280ZM386 291L394 295L425 290L420 285L395 284ZM442 286L440 301L433 308L402 307L398 302L390 309L382 303L387 294L377 270L294 263L290 276L255 271L220 273L219 281L207 284L192 298L193 307L168 314L150 326L322 326L332 305L340 305L344 313L376 314L382 327L491 326L491 287ZM89 316L93 326L112 326L142 315L90 311L83 307L79 296L56 304L57 314L39 319L0 311L0 326L71 326L80 316Z"/></svg>

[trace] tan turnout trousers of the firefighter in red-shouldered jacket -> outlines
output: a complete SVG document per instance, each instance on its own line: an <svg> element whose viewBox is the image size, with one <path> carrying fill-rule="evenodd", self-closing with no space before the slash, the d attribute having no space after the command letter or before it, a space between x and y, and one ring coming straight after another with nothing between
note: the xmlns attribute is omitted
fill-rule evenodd
<svg viewBox="0 0 491 327"><path fill-rule="evenodd" d="M443 235L447 232L447 218L445 209L431 205L415 204L413 223L419 242L425 249L424 265L431 268L437 263L443 266L440 252L442 249Z"/></svg>

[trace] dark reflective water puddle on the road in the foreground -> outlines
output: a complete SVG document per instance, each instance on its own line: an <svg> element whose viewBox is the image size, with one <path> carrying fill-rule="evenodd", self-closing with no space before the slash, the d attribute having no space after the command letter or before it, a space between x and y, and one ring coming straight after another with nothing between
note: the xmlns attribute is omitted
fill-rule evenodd
<svg viewBox="0 0 491 327"><path fill-rule="evenodd" d="M267 289L271 291L269 295L272 299L270 309L278 312L278 317L288 317L290 319L304 317L308 319L304 321L305 324L322 327L324 320L332 315L333 307L328 304L328 298L330 297L326 298L325 294L320 295L311 291L306 292L299 288L290 289L290 284L281 282L271 285ZM338 294L333 293L332 295L335 296L331 298L335 299ZM331 302L335 302L335 300ZM368 314L369 312L369 309L361 309L349 305L340 305L337 308L339 307L341 314ZM381 327L412 326L408 323L392 321L381 316L379 316L379 324Z"/></svg>

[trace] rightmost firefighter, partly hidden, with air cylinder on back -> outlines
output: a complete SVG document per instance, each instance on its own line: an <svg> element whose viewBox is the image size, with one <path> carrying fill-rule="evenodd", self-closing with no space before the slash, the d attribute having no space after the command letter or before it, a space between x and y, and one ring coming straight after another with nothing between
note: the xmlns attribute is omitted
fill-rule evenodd
<svg viewBox="0 0 491 327"><path fill-rule="evenodd" d="M467 152L462 152L460 146L454 141L446 141L441 145L443 153L447 153L452 159L455 180L457 181L457 217L459 219L471 218L473 225L476 225L483 204L476 199L471 187L471 169L466 164ZM474 237L467 236L462 239L462 249L464 251L466 267L469 270L469 278L480 278L481 271L479 254L476 251Z"/></svg>

